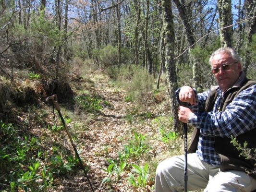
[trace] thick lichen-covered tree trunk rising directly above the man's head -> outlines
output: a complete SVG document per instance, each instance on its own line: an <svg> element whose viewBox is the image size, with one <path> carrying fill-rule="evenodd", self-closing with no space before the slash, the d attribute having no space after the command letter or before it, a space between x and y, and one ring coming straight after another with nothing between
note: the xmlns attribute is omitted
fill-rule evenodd
<svg viewBox="0 0 256 192"><path fill-rule="evenodd" d="M219 37L221 47L231 47L232 27L232 13L231 13L231 0L218 0L217 6L219 10ZM222 29L223 27L227 27Z"/></svg>

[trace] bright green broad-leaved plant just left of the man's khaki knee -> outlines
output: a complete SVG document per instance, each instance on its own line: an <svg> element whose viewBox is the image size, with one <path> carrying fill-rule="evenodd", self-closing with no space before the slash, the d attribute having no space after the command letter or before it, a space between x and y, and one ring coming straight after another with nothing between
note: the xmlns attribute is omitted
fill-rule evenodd
<svg viewBox="0 0 256 192"><path fill-rule="evenodd" d="M133 172L133 174L130 173L127 180L129 180L134 187L145 187L147 178L149 176L147 170L148 164L146 163L143 167L139 167L134 164L132 164L132 166L133 169L131 171Z"/></svg>

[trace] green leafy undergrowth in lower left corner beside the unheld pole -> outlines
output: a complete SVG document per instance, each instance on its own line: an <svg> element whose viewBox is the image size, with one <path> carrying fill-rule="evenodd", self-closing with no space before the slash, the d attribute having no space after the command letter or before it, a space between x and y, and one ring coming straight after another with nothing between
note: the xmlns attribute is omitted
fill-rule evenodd
<svg viewBox="0 0 256 192"><path fill-rule="evenodd" d="M66 119L68 123L69 119ZM0 120L0 189L2 191L48 191L53 181L78 168L78 159L63 145L47 143L44 136L24 133L24 128ZM63 129L48 125L52 135ZM51 150L48 150L48 149Z"/></svg>

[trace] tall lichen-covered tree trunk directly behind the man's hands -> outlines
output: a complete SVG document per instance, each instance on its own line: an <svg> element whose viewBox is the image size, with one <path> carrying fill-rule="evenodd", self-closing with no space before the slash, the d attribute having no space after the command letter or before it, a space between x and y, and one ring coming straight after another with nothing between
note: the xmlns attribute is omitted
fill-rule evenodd
<svg viewBox="0 0 256 192"><path fill-rule="evenodd" d="M165 42L165 66L167 72L167 80L169 93L171 97L171 112L173 116L173 130L180 131L181 123L178 120L178 110L177 103L175 98L175 91L178 88L177 83L177 75L176 75L176 66L174 62L174 45L175 45L175 34L174 34L174 24L173 24L173 15L171 10L171 1L170 0L162 0L163 7L163 16L164 16L164 27L165 31L162 34L165 34L164 42Z"/></svg>

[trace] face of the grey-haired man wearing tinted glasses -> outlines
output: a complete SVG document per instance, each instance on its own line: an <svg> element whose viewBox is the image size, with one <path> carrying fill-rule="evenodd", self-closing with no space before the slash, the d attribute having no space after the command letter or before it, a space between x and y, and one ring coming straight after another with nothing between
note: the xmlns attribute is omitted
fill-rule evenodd
<svg viewBox="0 0 256 192"><path fill-rule="evenodd" d="M219 72L214 73L214 78L216 83L219 85L221 91L225 91L232 87L232 85L239 78L240 72L242 70L242 66L240 62L234 63L235 60L229 56L228 53L221 52L218 55L215 55L211 61L211 68L219 68L226 64L232 64L228 66L228 70L219 69ZM234 63L234 64L233 64ZM225 67L224 67L225 69Z"/></svg>

